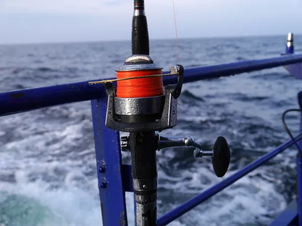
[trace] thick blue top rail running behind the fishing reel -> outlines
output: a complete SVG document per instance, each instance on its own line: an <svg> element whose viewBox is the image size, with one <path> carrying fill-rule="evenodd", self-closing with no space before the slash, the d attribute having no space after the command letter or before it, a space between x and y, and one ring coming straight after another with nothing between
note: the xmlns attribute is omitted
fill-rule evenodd
<svg viewBox="0 0 302 226"><path fill-rule="evenodd" d="M250 71L268 69L302 62L302 54L280 57L245 60L228 64L209 65L185 68L184 82L213 79ZM164 72L170 73L170 72ZM109 78L113 79L113 78ZM0 93L0 116L12 115L24 111L35 110L65 103L106 98L106 90L102 84L89 85L89 80L39 88L28 88ZM165 85L177 83L176 76L163 77Z"/></svg>

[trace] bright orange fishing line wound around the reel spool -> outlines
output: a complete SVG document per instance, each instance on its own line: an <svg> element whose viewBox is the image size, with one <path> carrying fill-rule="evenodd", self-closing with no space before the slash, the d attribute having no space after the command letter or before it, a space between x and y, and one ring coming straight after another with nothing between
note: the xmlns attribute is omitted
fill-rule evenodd
<svg viewBox="0 0 302 226"><path fill-rule="evenodd" d="M117 79L162 74L163 70L118 71ZM137 98L163 95L163 77L148 77L117 81L116 96Z"/></svg>

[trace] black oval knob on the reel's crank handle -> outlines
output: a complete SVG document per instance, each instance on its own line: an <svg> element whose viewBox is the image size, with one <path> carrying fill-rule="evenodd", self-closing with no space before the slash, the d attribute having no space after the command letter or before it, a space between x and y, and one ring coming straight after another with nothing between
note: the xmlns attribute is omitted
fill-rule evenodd
<svg viewBox="0 0 302 226"><path fill-rule="evenodd" d="M212 165L217 177L223 177L231 161L231 150L224 137L218 137L213 146Z"/></svg>

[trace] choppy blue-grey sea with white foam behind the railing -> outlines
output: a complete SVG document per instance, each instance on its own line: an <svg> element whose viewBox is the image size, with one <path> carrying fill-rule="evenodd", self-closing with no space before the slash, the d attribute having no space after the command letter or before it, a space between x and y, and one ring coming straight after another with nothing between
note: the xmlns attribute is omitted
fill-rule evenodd
<svg viewBox="0 0 302 226"><path fill-rule="evenodd" d="M179 43L181 64L190 67L278 56L286 35ZM302 49L302 37L295 37L295 48ZM130 42L0 46L0 91L113 77L130 54ZM150 55L168 69L178 63L176 41L151 41ZM282 67L185 84L178 125L162 135L192 135L204 149L224 136L232 163L217 178L210 159L194 159L191 149L159 152L159 216L288 140L281 115L297 107L301 89ZM297 133L299 117L291 115L287 122ZM278 155L171 225L267 225L295 197L295 154L292 148ZM129 162L127 153L123 158ZM127 206L133 225L130 193ZM1 118L0 225L101 222L90 102Z"/></svg>

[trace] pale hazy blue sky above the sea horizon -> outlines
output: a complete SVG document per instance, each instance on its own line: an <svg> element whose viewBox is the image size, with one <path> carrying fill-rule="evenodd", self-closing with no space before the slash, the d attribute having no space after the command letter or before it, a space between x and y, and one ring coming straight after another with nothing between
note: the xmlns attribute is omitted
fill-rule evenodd
<svg viewBox="0 0 302 226"><path fill-rule="evenodd" d="M302 33L302 0L174 0L179 38ZM172 0L145 0L150 39L175 39ZM0 44L131 39L133 0L0 0Z"/></svg>

